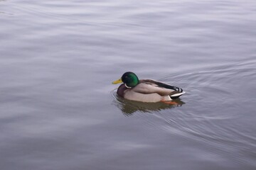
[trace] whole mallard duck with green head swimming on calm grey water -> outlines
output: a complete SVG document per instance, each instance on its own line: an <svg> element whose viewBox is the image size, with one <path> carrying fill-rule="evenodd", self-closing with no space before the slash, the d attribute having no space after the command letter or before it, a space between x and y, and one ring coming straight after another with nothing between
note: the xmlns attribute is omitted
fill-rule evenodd
<svg viewBox="0 0 256 170"><path fill-rule="evenodd" d="M112 84L123 83L117 89L117 95L131 101L159 102L171 101L185 94L183 89L160 81L140 79L133 72L125 72L121 79ZM171 102L170 102L171 103Z"/></svg>

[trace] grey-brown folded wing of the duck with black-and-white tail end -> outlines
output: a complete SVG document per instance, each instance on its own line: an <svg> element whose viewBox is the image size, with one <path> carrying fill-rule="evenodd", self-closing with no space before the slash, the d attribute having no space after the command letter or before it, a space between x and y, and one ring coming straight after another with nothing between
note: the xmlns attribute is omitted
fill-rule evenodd
<svg viewBox="0 0 256 170"><path fill-rule="evenodd" d="M141 94L159 94L161 96L172 96L174 94L183 93L183 89L176 86L171 86L169 84L164 84L160 81L155 81L151 79L142 79L139 84L135 86L133 91ZM179 95L179 96L181 96Z"/></svg>

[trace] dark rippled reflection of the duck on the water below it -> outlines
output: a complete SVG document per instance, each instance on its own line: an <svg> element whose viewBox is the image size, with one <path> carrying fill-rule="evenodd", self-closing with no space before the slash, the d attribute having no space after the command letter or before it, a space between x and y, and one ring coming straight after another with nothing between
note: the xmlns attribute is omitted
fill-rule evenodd
<svg viewBox="0 0 256 170"><path fill-rule="evenodd" d="M142 113L151 113L154 111L161 111L164 109L171 109L174 107L181 107L185 104L180 98L174 100L176 104L167 104L163 102L144 103L140 101L129 101L127 99L115 96L114 105L119 108L124 115L132 115L134 112L140 111Z"/></svg>

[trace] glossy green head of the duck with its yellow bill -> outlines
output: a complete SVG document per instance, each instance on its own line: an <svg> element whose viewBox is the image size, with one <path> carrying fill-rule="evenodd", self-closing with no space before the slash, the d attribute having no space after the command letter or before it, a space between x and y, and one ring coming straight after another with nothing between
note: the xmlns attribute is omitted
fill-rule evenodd
<svg viewBox="0 0 256 170"><path fill-rule="evenodd" d="M139 84L139 78L133 72L125 72L121 79L113 81L112 84L124 83L127 87L134 87Z"/></svg>

